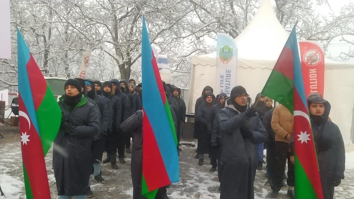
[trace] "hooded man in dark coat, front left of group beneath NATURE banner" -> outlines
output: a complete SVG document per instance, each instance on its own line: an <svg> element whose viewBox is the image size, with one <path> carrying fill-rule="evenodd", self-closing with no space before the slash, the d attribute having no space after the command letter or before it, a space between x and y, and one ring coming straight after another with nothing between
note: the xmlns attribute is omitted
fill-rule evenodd
<svg viewBox="0 0 354 199"><path fill-rule="evenodd" d="M210 139L211 139L211 125L208 125L209 114L211 106L213 105L213 99L215 99L214 94L206 93L204 96L204 102L198 107L195 115L195 121L199 122L201 125L198 131L200 136L198 138L197 153L199 154L198 165L203 165L204 154L209 153L210 149Z"/></svg>

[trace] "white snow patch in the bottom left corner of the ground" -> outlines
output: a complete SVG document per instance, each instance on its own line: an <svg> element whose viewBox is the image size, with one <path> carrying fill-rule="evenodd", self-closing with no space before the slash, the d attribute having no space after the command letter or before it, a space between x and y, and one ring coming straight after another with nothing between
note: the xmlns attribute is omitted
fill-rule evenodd
<svg viewBox="0 0 354 199"><path fill-rule="evenodd" d="M0 174L0 184L2 191L6 196L6 199L18 199L21 197L22 187L24 186L24 183L19 180L19 178Z"/></svg>

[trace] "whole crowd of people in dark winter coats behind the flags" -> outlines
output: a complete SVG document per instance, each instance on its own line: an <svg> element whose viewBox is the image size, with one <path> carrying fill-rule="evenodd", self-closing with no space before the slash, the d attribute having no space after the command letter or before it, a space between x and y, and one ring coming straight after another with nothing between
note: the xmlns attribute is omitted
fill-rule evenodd
<svg viewBox="0 0 354 199"><path fill-rule="evenodd" d="M180 142L186 106L181 89L162 82ZM101 164L119 169L125 153L132 153L133 199L144 199L142 185L142 83L135 80L93 81L69 79L59 99L62 121L54 141L53 169L59 199L92 197L93 180L104 183ZM344 179L345 151L338 126L331 121L331 106L320 94L307 98L318 157L324 199L333 199L334 187ZM218 172L221 199L254 199L256 170L266 164L266 176L277 198L282 187L294 199L293 115L282 105L258 94L255 103L242 86L230 96L213 94L206 86L195 103L195 158L203 165L210 157L210 172ZM131 145L132 139L132 145ZM179 146L179 145L178 145ZM267 149L266 162L263 151ZM176 150L181 151L179 147ZM103 153L106 152L106 158ZM285 174L287 163L287 175ZM285 183L285 179L286 182ZM167 199L166 187L156 199Z"/></svg>

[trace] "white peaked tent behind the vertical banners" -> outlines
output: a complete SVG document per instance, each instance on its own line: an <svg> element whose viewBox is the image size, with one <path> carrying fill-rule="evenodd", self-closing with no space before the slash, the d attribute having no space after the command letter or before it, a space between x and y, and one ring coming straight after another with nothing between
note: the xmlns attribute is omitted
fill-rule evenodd
<svg viewBox="0 0 354 199"><path fill-rule="evenodd" d="M238 48L236 84L254 99L261 92L289 36L276 18L270 0L264 0L252 21L236 37ZM205 86L215 87L216 53L192 56L188 112ZM236 85L234 85L236 86ZM218 94L218 93L217 93ZM354 65L325 59L324 98L330 101L330 117L350 142L354 108Z"/></svg>

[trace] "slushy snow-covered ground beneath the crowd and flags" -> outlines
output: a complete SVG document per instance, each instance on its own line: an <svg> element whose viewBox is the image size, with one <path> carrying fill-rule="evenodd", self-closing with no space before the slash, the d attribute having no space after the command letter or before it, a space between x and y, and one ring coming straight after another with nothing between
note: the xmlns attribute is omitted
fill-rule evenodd
<svg viewBox="0 0 354 199"><path fill-rule="evenodd" d="M6 136L5 136L6 139ZM0 139L0 185L6 197L0 199L25 198L24 183L22 177L21 147L18 141L1 143ZM48 180L51 187L52 198L56 199L55 178L52 170L52 153L46 159ZM198 166L198 160L194 159L195 147L182 145L180 159L180 182L171 185L167 189L170 199L219 199L219 182L217 172L210 173L209 158L206 158L203 166ZM129 156L130 157L130 156ZM119 170L112 170L108 164L103 165L103 177L105 184L93 183L91 189L96 199L130 199L132 198L132 185L130 178L130 158L126 164L119 164ZM354 198L354 152L347 153L346 179L336 188L336 199ZM255 179L255 199L269 198L270 187L265 186L267 180L265 171L257 171ZM286 188L280 192L279 198L288 198Z"/></svg>

